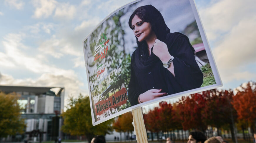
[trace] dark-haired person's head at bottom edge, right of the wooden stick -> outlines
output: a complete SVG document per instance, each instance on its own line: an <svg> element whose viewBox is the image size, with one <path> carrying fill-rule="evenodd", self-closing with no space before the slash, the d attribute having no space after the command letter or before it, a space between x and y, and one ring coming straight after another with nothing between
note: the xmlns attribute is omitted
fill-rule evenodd
<svg viewBox="0 0 256 143"><path fill-rule="evenodd" d="M206 137L203 132L199 130L193 130L189 133L187 143L204 143Z"/></svg>

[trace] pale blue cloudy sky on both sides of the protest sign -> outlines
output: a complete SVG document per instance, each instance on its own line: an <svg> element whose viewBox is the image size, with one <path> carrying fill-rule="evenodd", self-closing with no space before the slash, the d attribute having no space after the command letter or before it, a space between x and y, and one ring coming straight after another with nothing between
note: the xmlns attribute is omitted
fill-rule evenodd
<svg viewBox="0 0 256 143"><path fill-rule="evenodd" d="M84 38L130 0L1 0L0 85L88 95ZM255 0L195 0L223 87L256 81ZM67 103L65 103L67 104Z"/></svg>

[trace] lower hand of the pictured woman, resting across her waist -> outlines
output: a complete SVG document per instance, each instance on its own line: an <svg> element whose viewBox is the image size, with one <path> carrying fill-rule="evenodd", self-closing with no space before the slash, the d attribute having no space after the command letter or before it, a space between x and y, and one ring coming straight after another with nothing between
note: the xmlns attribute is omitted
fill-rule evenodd
<svg viewBox="0 0 256 143"><path fill-rule="evenodd" d="M149 89L148 91L139 95L139 103L146 102L152 99L159 98L161 96L167 95L167 93L160 93L162 89Z"/></svg>

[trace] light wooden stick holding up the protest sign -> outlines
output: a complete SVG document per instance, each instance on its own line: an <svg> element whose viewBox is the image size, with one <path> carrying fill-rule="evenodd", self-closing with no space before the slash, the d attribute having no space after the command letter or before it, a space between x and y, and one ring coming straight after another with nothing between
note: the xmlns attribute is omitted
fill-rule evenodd
<svg viewBox="0 0 256 143"><path fill-rule="evenodd" d="M137 108L132 110L134 130L136 132L136 139L138 143L147 143L147 132L143 120L142 109Z"/></svg>

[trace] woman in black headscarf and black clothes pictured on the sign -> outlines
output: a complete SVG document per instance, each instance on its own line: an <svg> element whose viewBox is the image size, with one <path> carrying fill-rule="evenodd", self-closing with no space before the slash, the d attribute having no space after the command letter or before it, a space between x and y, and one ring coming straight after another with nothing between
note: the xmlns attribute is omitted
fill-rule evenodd
<svg viewBox="0 0 256 143"><path fill-rule="evenodd" d="M132 54L128 98L131 105L202 85L203 75L187 36L174 32L151 5L138 7L129 27L138 48Z"/></svg>

